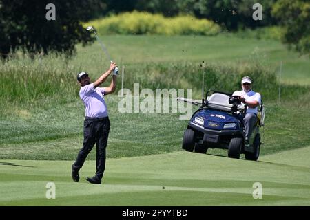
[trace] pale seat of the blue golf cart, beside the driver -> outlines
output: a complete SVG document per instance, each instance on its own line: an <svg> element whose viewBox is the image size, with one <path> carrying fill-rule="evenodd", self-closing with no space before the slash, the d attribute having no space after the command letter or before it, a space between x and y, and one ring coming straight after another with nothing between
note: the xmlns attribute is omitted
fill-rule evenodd
<svg viewBox="0 0 310 220"><path fill-rule="evenodd" d="M231 111L232 104L228 102L229 96L226 94L214 93L207 98L208 107L223 111Z"/></svg>

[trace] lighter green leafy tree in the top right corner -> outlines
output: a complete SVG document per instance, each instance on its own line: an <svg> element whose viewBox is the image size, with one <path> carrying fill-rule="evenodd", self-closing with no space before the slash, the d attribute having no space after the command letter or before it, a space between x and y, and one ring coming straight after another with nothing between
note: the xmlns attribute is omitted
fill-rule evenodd
<svg viewBox="0 0 310 220"><path fill-rule="evenodd" d="M298 52L310 52L310 2L309 0L278 0L273 5L273 16L285 28L282 42Z"/></svg>

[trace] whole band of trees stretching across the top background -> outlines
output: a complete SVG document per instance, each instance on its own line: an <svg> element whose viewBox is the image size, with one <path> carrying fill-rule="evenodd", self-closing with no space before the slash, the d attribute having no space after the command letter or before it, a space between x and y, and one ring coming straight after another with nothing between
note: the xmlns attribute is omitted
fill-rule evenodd
<svg viewBox="0 0 310 220"><path fill-rule="evenodd" d="M48 3L55 5L56 20L45 18ZM76 43L94 41L81 22L133 10L165 17L191 14L231 31L280 24L285 28L283 43L309 53L309 0L260 0L261 21L252 19L254 3L255 0L0 0L0 53L25 50L72 54Z"/></svg>

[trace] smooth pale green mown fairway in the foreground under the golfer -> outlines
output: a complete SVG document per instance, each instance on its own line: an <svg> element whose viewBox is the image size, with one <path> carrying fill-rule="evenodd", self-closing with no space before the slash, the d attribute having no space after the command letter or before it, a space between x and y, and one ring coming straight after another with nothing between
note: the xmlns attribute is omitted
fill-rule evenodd
<svg viewBox="0 0 310 220"><path fill-rule="evenodd" d="M94 161L72 182L72 161L0 161L1 206L309 206L310 146L259 162L175 152L108 159L103 184L85 181ZM56 185L46 199L45 185ZM253 184L262 184L254 199ZM164 188L163 188L164 187Z"/></svg>

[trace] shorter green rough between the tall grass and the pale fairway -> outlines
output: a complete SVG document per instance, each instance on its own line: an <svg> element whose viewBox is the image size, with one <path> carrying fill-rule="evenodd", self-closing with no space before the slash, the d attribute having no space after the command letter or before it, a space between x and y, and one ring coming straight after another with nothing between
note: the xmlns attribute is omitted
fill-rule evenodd
<svg viewBox="0 0 310 220"><path fill-rule="evenodd" d="M309 98L300 97L308 105L300 101L266 104L266 126L260 131L265 142L261 155L310 144L309 135L305 135L310 131ZM119 113L119 100L117 96L106 98L112 124L107 157L181 151L187 121L178 120L180 113ZM23 110L23 114L2 120L0 158L76 159L83 143L83 112L83 104L77 99L53 109ZM217 149L210 152L227 155L227 151ZM95 151L89 158L95 158Z"/></svg>

